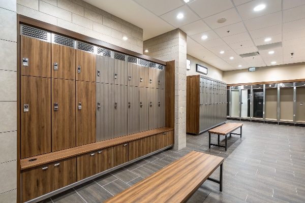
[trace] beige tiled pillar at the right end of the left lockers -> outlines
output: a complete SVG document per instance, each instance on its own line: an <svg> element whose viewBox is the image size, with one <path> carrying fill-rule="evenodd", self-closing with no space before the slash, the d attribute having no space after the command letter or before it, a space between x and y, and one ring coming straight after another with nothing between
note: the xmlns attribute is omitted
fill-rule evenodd
<svg viewBox="0 0 305 203"><path fill-rule="evenodd" d="M186 147L187 35L175 29L144 41L146 55L163 61L175 60L175 149Z"/></svg>

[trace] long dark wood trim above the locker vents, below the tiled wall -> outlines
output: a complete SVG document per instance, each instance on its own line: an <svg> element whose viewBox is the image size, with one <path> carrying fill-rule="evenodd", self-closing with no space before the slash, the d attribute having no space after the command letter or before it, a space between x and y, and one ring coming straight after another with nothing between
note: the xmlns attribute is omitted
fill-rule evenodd
<svg viewBox="0 0 305 203"><path fill-rule="evenodd" d="M43 22L43 21L40 21L40 20L36 20L34 18L19 15L19 21L18 22L23 23L23 24L27 24L27 25L31 25L31 26L34 26L34 27L37 27L37 28L43 28L43 29L46 29L46 30L49 30L49 31L52 31L52 32L56 32L58 34L61 34L61 35L67 36L67 37L72 37L74 39L77 39L77 40L80 40L80 41L83 41L83 42L86 42L86 43L102 46L103 48L110 49L112 51L124 53L124 54L127 54L127 55L131 55L131 56L135 56L135 57L138 57L138 58L141 58L141 59L145 59L145 60L148 60L148 61L151 61L151 62L156 62L156 63L160 63L162 65L166 65L165 61L162 61L162 60L150 57L150 56L146 56L146 55L143 55L143 54L140 54L140 53L137 53L137 52L134 52L134 51L131 51L131 50L128 50L128 49L125 49L125 48L107 43L107 42L103 42L101 40L90 38L90 37L82 35L80 33L77 33L77 32L62 28L62 27L58 27L56 25L52 25L52 24L49 24L49 23L46 23L46 22ZM18 35L19 35L19 33L18 33Z"/></svg>

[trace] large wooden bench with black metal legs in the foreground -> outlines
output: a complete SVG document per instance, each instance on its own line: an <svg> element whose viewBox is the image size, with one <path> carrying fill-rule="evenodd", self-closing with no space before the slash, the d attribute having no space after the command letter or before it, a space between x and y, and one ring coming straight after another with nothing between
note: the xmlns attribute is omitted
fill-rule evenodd
<svg viewBox="0 0 305 203"><path fill-rule="evenodd" d="M185 202L205 180L220 184L224 158L191 152L105 202ZM209 176L220 166L220 180Z"/></svg>

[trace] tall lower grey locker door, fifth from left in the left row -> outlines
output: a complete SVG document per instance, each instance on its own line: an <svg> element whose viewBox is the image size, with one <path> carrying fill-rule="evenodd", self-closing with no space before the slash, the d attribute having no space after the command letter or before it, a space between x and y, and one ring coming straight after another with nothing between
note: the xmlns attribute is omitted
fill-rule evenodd
<svg viewBox="0 0 305 203"><path fill-rule="evenodd" d="M114 138L127 135L127 86L114 85Z"/></svg>

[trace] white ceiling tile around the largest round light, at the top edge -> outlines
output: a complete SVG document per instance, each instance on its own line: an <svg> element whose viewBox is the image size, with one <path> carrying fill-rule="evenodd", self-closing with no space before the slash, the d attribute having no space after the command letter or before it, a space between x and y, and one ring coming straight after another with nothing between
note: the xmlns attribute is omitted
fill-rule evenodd
<svg viewBox="0 0 305 203"><path fill-rule="evenodd" d="M258 5L264 4L265 9L254 11ZM236 7L242 20L249 20L259 16L264 16L270 13L275 13L282 10L281 0L255 0L247 4Z"/></svg>

